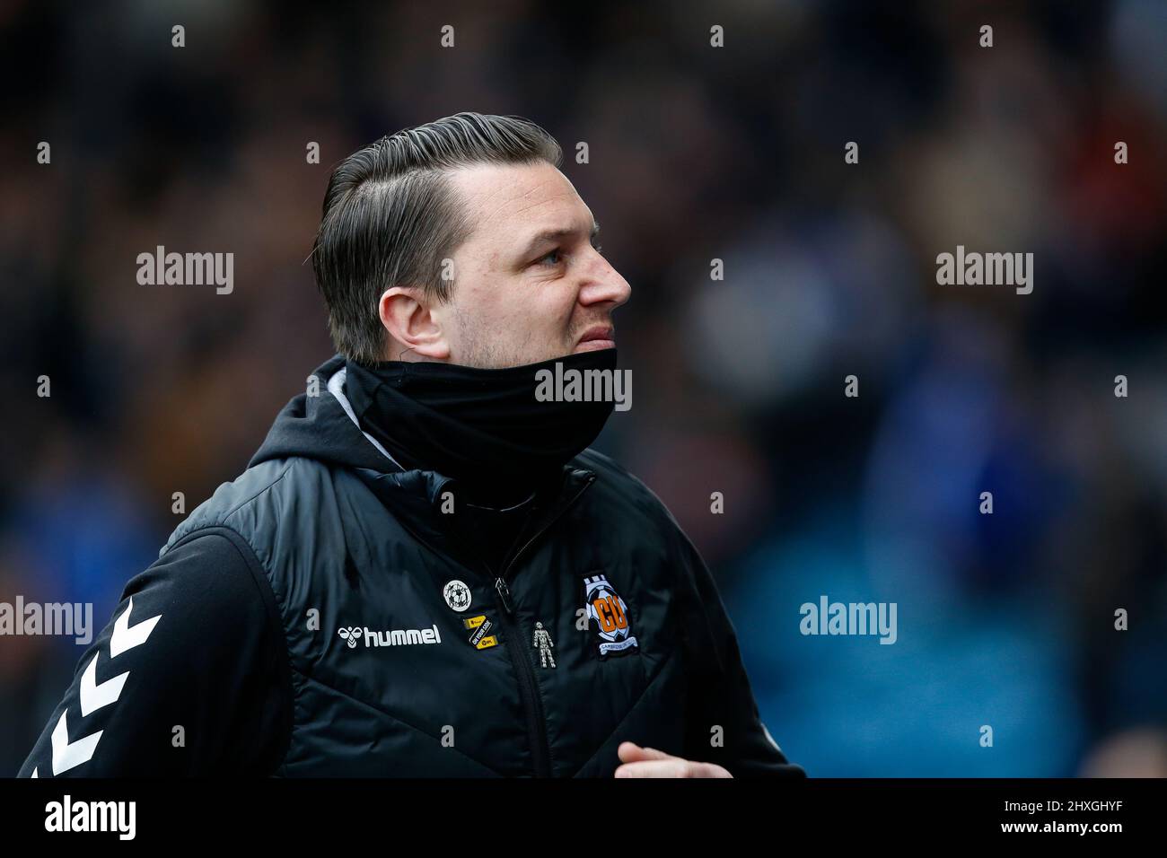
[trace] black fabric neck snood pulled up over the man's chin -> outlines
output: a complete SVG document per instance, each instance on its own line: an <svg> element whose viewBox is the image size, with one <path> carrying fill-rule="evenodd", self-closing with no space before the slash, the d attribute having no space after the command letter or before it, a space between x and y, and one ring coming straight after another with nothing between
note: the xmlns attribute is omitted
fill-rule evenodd
<svg viewBox="0 0 1167 858"><path fill-rule="evenodd" d="M449 363L347 362L345 395L361 427L406 468L434 470L491 505L517 503L592 444L613 402L540 402L548 370L616 372L616 349L476 369ZM571 374L569 374L571 375ZM568 375L568 377L569 377Z"/></svg>

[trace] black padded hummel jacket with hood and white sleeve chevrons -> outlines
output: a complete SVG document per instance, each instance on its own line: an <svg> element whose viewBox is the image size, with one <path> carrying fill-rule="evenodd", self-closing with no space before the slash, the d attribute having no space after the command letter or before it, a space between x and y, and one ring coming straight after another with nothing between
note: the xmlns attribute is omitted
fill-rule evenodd
<svg viewBox="0 0 1167 858"><path fill-rule="evenodd" d="M489 568L456 484L362 433L343 365L130 581L21 775L607 777L630 740L803 776L640 481L585 452Z"/></svg>

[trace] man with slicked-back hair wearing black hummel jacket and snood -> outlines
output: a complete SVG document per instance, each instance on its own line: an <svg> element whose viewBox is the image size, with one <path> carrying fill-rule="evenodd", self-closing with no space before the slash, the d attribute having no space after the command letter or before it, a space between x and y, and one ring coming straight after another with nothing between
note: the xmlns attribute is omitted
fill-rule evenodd
<svg viewBox="0 0 1167 858"><path fill-rule="evenodd" d="M630 291L560 158L460 113L336 168L340 354L128 583L21 775L803 776L696 549L586 449ZM538 395L573 372L608 396Z"/></svg>

